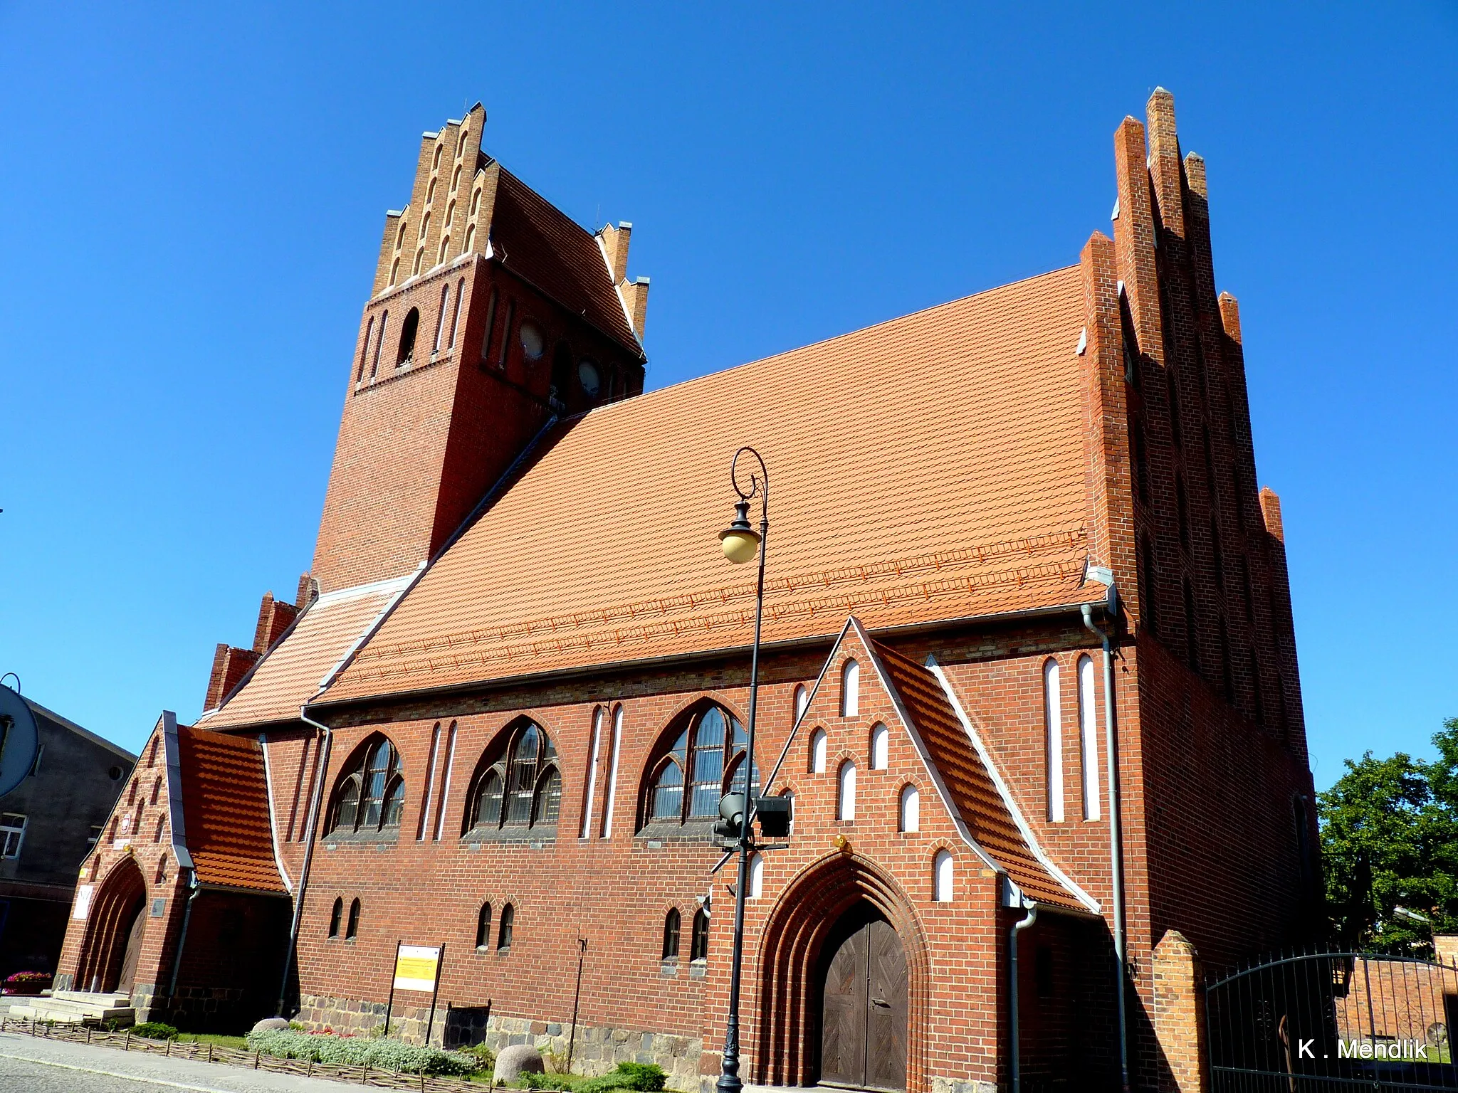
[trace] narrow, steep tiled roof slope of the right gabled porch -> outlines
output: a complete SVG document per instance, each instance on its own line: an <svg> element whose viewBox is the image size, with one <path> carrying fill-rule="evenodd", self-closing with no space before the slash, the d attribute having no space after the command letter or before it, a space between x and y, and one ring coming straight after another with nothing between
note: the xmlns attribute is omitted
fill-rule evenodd
<svg viewBox="0 0 1458 1093"><path fill-rule="evenodd" d="M1048 871L1018 829L940 681L895 650L878 641L870 644L977 845L1029 899L1086 912L1089 908Z"/></svg>

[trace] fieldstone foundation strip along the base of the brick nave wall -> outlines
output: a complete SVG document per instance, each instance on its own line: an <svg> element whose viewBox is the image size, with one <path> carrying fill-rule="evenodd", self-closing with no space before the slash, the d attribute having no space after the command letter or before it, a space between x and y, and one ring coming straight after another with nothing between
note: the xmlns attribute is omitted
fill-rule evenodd
<svg viewBox="0 0 1458 1093"><path fill-rule="evenodd" d="M385 1023L385 1003L359 998L330 998L305 994L299 1000L296 1022L308 1029L330 1027L335 1032L367 1033ZM391 1036L423 1043L430 1020L429 1006L395 1004L389 1016ZM529 1043L544 1055L567 1057L573 1041L567 1022L542 1022L510 1017L481 1008L436 1008L430 1042L443 1048L486 1043L491 1051L513 1043ZM697 1036L671 1036L643 1029L579 1025L572 1052L574 1074L605 1074L620 1062L656 1062L668 1074L668 1087L694 1092L700 1087L698 1058L704 1043ZM939 1092L940 1093L940 1092ZM945 1093L971 1093L946 1090Z"/></svg>

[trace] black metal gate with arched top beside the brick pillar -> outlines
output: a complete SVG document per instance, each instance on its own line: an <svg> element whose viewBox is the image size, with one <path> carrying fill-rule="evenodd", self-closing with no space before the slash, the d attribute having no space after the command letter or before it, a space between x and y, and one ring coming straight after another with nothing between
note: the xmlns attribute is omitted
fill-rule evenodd
<svg viewBox="0 0 1458 1093"><path fill-rule="evenodd" d="M1305 953L1206 985L1215 1093L1458 1090L1458 966Z"/></svg>

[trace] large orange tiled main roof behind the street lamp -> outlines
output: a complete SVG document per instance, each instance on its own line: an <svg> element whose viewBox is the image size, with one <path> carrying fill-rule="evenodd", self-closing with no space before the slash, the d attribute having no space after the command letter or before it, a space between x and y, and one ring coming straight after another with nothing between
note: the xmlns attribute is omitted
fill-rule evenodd
<svg viewBox="0 0 1458 1093"><path fill-rule="evenodd" d="M1079 602L1082 328L1070 267L573 418L324 701L742 649L739 444L770 465L767 643Z"/></svg>

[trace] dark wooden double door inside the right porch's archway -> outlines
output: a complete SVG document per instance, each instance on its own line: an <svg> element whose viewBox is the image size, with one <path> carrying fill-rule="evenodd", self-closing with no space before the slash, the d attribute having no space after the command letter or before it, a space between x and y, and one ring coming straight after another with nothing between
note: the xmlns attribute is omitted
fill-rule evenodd
<svg viewBox="0 0 1458 1093"><path fill-rule="evenodd" d="M907 957L884 918L838 931L825 965L821 1083L903 1090L907 1084ZM834 941L835 934L833 934Z"/></svg>

